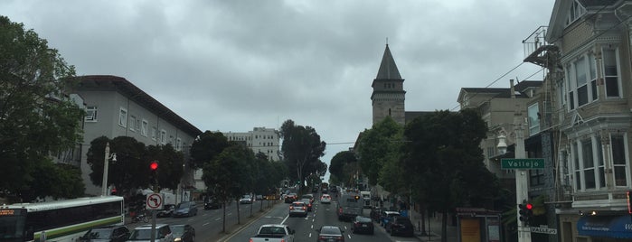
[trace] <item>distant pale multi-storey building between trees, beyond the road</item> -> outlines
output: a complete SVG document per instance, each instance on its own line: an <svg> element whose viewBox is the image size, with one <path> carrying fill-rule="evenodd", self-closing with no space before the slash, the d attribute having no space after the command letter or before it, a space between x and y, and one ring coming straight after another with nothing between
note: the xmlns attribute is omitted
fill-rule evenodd
<svg viewBox="0 0 632 242"><path fill-rule="evenodd" d="M274 128L255 127L252 131L241 133L222 133L229 141L250 147L254 154L266 154L270 161L282 159L280 151L280 133Z"/></svg>

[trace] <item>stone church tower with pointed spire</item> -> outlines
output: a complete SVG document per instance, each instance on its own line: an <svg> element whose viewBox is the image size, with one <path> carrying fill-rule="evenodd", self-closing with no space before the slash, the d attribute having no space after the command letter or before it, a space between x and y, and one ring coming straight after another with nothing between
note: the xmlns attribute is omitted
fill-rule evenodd
<svg viewBox="0 0 632 242"><path fill-rule="evenodd" d="M373 94L371 94L373 125L381 122L384 117L391 116L395 122L403 126L406 121L404 79L401 79L400 70L397 70L397 65L392 59L388 43L380 70L377 72L377 77L373 79L371 87L373 88Z"/></svg>

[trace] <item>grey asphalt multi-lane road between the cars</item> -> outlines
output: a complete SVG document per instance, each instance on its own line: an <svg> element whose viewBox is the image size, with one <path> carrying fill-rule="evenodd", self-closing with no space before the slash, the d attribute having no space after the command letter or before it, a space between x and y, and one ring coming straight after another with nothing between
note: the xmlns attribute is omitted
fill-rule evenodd
<svg viewBox="0 0 632 242"><path fill-rule="evenodd" d="M250 208L252 206L252 215ZM242 242L249 241L249 238L257 233L263 224L286 224L289 228L295 229L295 242L316 241L318 232L316 228L324 225L334 225L344 229L346 242L378 242L378 241L420 241L417 237L391 237L379 224L375 226L374 235L357 235L352 233L352 223L349 221L338 221L335 213L336 201L331 204L321 204L316 200L314 208L309 212L307 218L288 218L289 204L283 201L263 201L263 212L259 212L261 204L241 204L241 224L237 224L237 204L232 202L226 208L226 229L222 232L222 212L223 209L204 210L203 206L198 210L198 215L190 218L158 218L156 223L166 224L190 224L195 228L195 241L198 242ZM364 209L363 213L368 217L369 209ZM139 226L139 223L130 224L130 229Z"/></svg>

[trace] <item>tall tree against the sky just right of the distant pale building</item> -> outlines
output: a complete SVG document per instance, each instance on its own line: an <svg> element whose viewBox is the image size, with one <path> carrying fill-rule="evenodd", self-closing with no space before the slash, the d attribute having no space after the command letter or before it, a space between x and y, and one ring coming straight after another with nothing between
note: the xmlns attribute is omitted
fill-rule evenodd
<svg viewBox="0 0 632 242"><path fill-rule="evenodd" d="M320 140L320 135L313 127L296 126L292 120L283 123L280 133L283 138L281 152L288 170L296 174L296 177L291 175L290 178L299 181L299 190L302 191L306 174L323 172L323 166L317 163L322 163L319 158L325 155L326 144Z"/></svg>

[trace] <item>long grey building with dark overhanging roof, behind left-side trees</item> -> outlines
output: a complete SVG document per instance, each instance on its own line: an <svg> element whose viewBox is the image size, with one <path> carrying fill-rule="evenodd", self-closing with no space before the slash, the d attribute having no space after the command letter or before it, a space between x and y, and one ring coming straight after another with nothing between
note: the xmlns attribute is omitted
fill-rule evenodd
<svg viewBox="0 0 632 242"><path fill-rule="evenodd" d="M116 76L82 76L77 80L79 85L73 93L83 99L87 111L83 144L80 145L78 152L87 194L101 194L101 187L93 185L90 181L91 170L86 156L90 141L99 136L105 135L110 139L129 136L146 145L172 144L175 150L184 154L184 161L188 161L189 147L193 140L202 134L200 129L127 79ZM181 187L192 188L196 185L195 172L188 170L187 167L184 169ZM197 176L201 177L201 174ZM200 190L203 188L196 187Z"/></svg>

